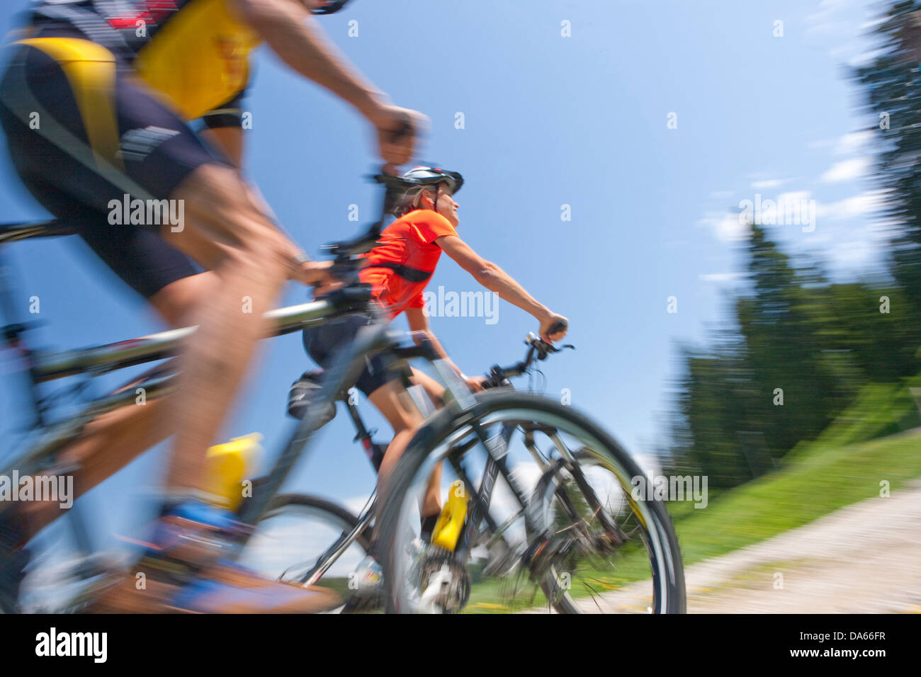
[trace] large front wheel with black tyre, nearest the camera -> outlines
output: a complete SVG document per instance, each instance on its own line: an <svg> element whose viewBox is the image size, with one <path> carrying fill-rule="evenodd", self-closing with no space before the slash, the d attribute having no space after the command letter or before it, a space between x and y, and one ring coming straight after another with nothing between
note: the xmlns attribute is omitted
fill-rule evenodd
<svg viewBox="0 0 921 677"><path fill-rule="evenodd" d="M430 419L394 470L380 519L388 611L683 613L674 530L660 501L631 496L631 479L643 473L629 454L553 400L517 392L475 399L461 414L443 410ZM488 440L512 431L491 444L505 460L500 476L506 484L511 477L507 495L527 498L524 505L496 500L496 489L488 517L465 525L473 534L468 551L429 544L420 553L414 525L432 470L449 461L444 487L452 470L466 464L473 477L485 465L474 423ZM472 487L471 506L479 493Z"/></svg>

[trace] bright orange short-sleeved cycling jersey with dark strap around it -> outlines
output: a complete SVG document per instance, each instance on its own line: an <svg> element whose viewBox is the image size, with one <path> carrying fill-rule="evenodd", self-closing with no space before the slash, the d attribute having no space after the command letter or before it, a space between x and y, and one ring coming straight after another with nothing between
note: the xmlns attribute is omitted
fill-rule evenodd
<svg viewBox="0 0 921 677"><path fill-rule="evenodd" d="M422 292L435 272L441 248L435 240L457 235L449 220L431 209L416 209L384 229L380 244L365 254L359 277L373 287L374 298L391 311L423 308Z"/></svg>

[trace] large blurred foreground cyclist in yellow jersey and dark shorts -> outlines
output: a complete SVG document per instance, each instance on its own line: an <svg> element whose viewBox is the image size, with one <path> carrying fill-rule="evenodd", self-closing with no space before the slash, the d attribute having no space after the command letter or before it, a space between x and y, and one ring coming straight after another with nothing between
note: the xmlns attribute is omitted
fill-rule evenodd
<svg viewBox="0 0 921 677"><path fill-rule="evenodd" d="M64 453L82 466L75 476L82 493L176 433L163 509L142 560L147 591L135 590L131 577L114 587L102 609L311 611L331 603L321 591L265 581L217 561L222 540L238 525L211 507L204 455L266 332L262 313L273 308L282 286L335 284L329 263L309 261L241 177L239 99L250 53L264 41L299 75L352 104L377 131L390 171L411 157L414 129L424 120L391 105L310 17L343 5L49 0L33 8L12 45L0 82L0 123L20 178L165 321L199 325L179 357L175 395L109 414ZM201 137L190 126L199 118L209 127ZM394 139L397 130L404 133ZM111 201L125 195L176 201L184 219L111 225ZM196 274L192 262L206 272ZM240 312L244 297L251 299L249 313ZM48 507L0 516L0 590L14 600L23 544L60 514Z"/></svg>

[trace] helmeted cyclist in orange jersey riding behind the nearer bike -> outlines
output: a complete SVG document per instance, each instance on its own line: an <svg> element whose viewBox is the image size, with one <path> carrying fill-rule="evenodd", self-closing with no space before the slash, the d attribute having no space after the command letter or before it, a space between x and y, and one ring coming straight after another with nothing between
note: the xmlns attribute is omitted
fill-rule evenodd
<svg viewBox="0 0 921 677"><path fill-rule="evenodd" d="M367 259L359 276L362 282L372 286L373 297L390 314L391 321L405 314L410 330L416 332L415 340L428 338L438 357L447 361L472 391L483 390L483 377L464 375L450 359L445 349L432 333L426 313L423 292L431 279L441 253L444 252L458 263L473 279L499 298L530 313L539 322L541 338L553 343L565 336L562 331L550 333L554 324L568 321L532 298L511 275L495 263L486 261L473 251L458 235L458 207L454 195L461 190L463 177L447 169L416 167L402 175L403 179L415 185L406 190L394 206L394 221L385 228L379 245L364 256ZM304 330L304 347L321 367L332 363L337 349L349 344L358 329L367 324L370 317L355 314ZM413 370L411 380L422 386L432 399L440 402L444 389L426 374ZM297 384L296 384L297 387ZM367 368L359 377L356 387L374 404L393 427L393 439L387 448L379 471L380 503L384 505L387 481L403 449L413 438L415 428L422 424L418 410L406 403L403 396L402 379L399 374L388 371L382 356L368 360ZM441 468L433 473L426 496L420 506L422 536L431 535L441 511L440 496ZM377 543L372 543L370 553L358 567L357 582L360 589L375 589L380 578Z"/></svg>

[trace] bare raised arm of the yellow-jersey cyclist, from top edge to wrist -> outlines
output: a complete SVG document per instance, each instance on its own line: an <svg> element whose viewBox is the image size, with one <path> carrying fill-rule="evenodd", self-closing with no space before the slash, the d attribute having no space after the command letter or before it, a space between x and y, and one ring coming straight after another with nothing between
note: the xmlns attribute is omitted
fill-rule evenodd
<svg viewBox="0 0 921 677"><path fill-rule="evenodd" d="M386 97L346 61L297 0L231 0L274 53L302 76L327 88L376 123Z"/></svg>

